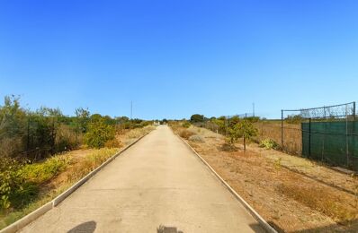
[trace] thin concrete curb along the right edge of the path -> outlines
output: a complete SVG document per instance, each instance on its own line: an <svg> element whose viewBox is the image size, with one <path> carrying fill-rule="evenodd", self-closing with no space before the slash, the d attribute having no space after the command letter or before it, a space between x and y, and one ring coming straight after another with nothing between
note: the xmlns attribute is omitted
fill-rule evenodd
<svg viewBox="0 0 358 233"><path fill-rule="evenodd" d="M270 232L270 233L277 233L277 231L275 229L273 229L273 227L267 223L266 220L264 220L264 218L254 210L254 208L249 204L249 203L246 203L245 199L242 198L239 194L237 194L237 192L231 187L228 185L228 183L222 178L219 176L219 174L214 170L214 168L211 168L210 164L204 160L201 155L195 151L192 146L186 142L185 140L183 140L183 138L181 136L179 136L178 134L175 134L180 140L182 140L185 145L187 147L189 147L189 149L191 149L194 154L196 154L196 156L201 160L201 162L206 165L207 168L210 169L210 171L215 175L215 177L219 178L219 181L228 189L228 191L233 194L235 196L235 198L237 199L237 201L239 203L242 203L245 207L245 209L254 217L255 220L258 221L258 223L264 228L264 230L266 230L267 232ZM1 232L0 232L1 233Z"/></svg>

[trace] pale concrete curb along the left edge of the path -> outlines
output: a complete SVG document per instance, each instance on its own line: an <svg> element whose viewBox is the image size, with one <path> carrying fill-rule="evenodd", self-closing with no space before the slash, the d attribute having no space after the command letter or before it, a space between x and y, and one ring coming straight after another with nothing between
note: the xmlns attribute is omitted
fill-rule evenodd
<svg viewBox="0 0 358 233"><path fill-rule="evenodd" d="M85 184L85 182L88 181L91 177L94 177L94 175L97 172L99 172L102 168L104 168L106 165L108 165L110 162L112 162L112 160L115 160L118 156L121 155L121 153L130 149L131 146L133 146L135 143L139 142L139 140L141 140L142 138L144 138L145 136L147 136L148 134L150 134L153 131L154 130L148 132L147 134L140 136L134 142L131 142L129 145L122 148L120 151L118 151L117 153L112 155L111 158L104 161L103 164L101 164L98 168L95 168L93 171L91 171L85 177L83 177L82 179L77 181L73 186L69 187L65 192L63 192L62 194L59 194L57 197L55 197L49 203L45 203L44 205L42 205L35 211L31 211L31 213L23 216L20 220L13 222L6 228L0 229L0 233L14 233L20 229L23 229L24 227L29 225L33 220L37 220L38 218L40 218L40 216L45 214L47 211L55 208L59 203L63 202L70 194L74 193L76 191L76 189L78 189L80 186Z"/></svg>

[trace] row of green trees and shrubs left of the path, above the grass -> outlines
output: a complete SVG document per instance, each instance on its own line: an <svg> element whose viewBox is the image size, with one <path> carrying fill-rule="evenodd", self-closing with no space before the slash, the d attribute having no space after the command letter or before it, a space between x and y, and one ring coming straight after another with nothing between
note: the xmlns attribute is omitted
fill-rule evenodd
<svg viewBox="0 0 358 233"><path fill-rule="evenodd" d="M127 116L91 114L87 108L76 108L75 116L65 116L59 108L30 110L18 97L6 96L0 106L0 159L41 160L82 144L101 148L113 144L115 134L123 130L149 124Z"/></svg>

